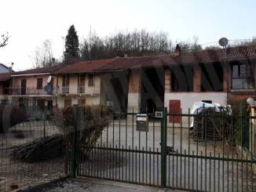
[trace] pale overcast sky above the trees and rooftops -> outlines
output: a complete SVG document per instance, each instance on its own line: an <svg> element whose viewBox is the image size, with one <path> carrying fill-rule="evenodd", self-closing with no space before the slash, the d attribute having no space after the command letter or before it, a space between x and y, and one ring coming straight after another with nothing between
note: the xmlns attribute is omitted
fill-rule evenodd
<svg viewBox="0 0 256 192"><path fill-rule="evenodd" d="M14 70L32 67L31 57L46 39L59 59L68 27L75 24L79 40L90 26L100 36L117 31L166 31L175 41L199 37L199 43L221 37L256 36L254 0L0 0L0 34L9 32L9 45L0 49L0 63L14 63Z"/></svg>

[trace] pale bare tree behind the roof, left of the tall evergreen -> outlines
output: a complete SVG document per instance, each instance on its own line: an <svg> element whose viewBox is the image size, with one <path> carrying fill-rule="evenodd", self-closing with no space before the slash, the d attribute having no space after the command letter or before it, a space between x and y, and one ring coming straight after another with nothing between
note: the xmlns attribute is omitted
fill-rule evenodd
<svg viewBox="0 0 256 192"><path fill-rule="evenodd" d="M52 42L49 39L46 39L41 47L37 47L32 57L32 62L35 68L52 67L57 63L53 57Z"/></svg>

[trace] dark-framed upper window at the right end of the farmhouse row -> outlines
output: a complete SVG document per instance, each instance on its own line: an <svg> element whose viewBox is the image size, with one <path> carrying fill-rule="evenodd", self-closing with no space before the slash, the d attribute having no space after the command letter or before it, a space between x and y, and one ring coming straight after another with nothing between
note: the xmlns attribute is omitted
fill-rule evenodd
<svg viewBox="0 0 256 192"><path fill-rule="evenodd" d="M232 89L253 89L254 78L250 64L232 65Z"/></svg>

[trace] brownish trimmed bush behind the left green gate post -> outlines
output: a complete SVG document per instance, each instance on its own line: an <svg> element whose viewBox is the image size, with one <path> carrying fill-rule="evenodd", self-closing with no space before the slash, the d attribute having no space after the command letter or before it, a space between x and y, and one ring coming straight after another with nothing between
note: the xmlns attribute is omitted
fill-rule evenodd
<svg viewBox="0 0 256 192"><path fill-rule="evenodd" d="M65 142L70 146L76 125L77 143L81 147L82 154L87 156L91 147L95 145L101 136L102 130L108 126L112 120L112 107L103 105L67 107L57 110L53 114L53 119L62 132L64 132Z"/></svg>

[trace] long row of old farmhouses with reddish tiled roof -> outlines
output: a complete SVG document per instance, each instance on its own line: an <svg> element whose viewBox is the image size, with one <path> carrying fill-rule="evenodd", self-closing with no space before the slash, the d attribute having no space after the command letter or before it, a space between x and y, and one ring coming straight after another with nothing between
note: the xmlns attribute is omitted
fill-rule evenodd
<svg viewBox="0 0 256 192"><path fill-rule="evenodd" d="M253 45L85 61L13 73L8 95L60 108L103 104L123 112L153 113L167 107L188 113L196 101L225 105L254 96L255 64Z"/></svg>

